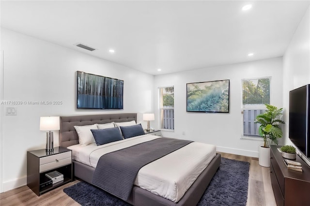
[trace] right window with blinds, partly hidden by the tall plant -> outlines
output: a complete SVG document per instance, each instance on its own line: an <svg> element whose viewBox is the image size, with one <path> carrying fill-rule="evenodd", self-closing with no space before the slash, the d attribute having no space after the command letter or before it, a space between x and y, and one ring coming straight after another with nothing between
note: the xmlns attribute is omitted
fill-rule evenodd
<svg viewBox="0 0 310 206"><path fill-rule="evenodd" d="M265 112L270 104L270 77L242 80L243 136L259 137L257 115Z"/></svg>

